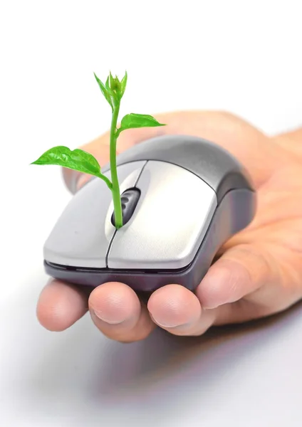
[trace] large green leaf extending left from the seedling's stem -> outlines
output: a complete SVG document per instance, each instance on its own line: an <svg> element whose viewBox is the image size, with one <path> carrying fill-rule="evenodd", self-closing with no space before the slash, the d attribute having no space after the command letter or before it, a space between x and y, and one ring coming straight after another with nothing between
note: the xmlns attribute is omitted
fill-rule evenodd
<svg viewBox="0 0 302 427"><path fill-rule="evenodd" d="M54 164L68 169L73 169L84 174L98 176L103 179L109 188L112 186L107 176L101 174L100 164L92 154L83 151L82 149L74 149L71 151L68 147L59 145L48 149L35 162L31 164Z"/></svg>

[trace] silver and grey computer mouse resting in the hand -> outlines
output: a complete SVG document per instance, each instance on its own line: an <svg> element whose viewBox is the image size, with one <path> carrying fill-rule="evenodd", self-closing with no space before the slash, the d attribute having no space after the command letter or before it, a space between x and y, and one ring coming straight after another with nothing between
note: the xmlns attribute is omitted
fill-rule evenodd
<svg viewBox="0 0 302 427"><path fill-rule="evenodd" d="M92 178L71 199L43 248L46 273L78 285L121 282L153 292L194 290L219 248L256 211L251 179L229 152L187 135L148 139L117 157L123 227L111 192ZM103 168L110 177L110 165Z"/></svg>

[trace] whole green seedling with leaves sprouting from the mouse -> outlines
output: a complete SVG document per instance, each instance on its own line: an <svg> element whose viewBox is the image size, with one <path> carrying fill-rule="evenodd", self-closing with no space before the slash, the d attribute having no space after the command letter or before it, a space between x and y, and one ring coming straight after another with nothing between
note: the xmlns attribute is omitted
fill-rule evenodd
<svg viewBox="0 0 302 427"><path fill-rule="evenodd" d="M95 73L94 73L95 75ZM123 130L133 129L135 127L155 127L165 126L162 123L157 122L154 117L150 115L142 115L130 113L123 117L118 124L118 114L120 112L120 101L125 93L127 84L127 72L122 80L119 80L115 75L108 75L105 85L95 75L95 80L98 82L101 92L111 107L112 118L110 126L110 174L111 181L107 176L103 175L100 170L100 164L98 160L93 157L92 154L83 151L82 149L74 149L71 151L68 147L57 146L48 149L44 154L39 157L36 162L31 164L55 164L68 169L73 169L78 172L98 176L103 179L110 189L113 196L113 206L115 214L115 228L123 226L123 211L120 197L120 184L118 182L118 170L116 162L116 145L118 137Z"/></svg>

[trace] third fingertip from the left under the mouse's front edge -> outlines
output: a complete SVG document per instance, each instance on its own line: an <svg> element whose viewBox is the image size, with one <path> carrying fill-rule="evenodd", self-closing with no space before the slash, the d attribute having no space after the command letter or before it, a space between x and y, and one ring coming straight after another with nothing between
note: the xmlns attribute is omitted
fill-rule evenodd
<svg viewBox="0 0 302 427"><path fill-rule="evenodd" d="M175 335L200 335L215 320L215 310L202 310L197 296L180 285L156 290L147 308L158 326Z"/></svg>

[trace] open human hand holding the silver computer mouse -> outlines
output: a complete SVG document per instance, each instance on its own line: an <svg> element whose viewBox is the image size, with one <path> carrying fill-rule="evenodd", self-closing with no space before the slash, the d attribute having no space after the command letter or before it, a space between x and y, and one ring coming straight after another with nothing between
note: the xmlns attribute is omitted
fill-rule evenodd
<svg viewBox="0 0 302 427"><path fill-rule="evenodd" d="M170 284L147 304L123 283L88 290L51 280L37 316L51 331L71 327L87 311L106 337L145 339L155 327L175 335L200 335L212 325L247 322L286 310L302 297L302 129L267 137L226 112L157 115L165 127L127 130L118 152L164 134L197 135L226 148L244 164L258 196L254 221L231 238L196 292ZM109 133L81 147L100 164L109 161ZM73 193L89 176L63 170Z"/></svg>

